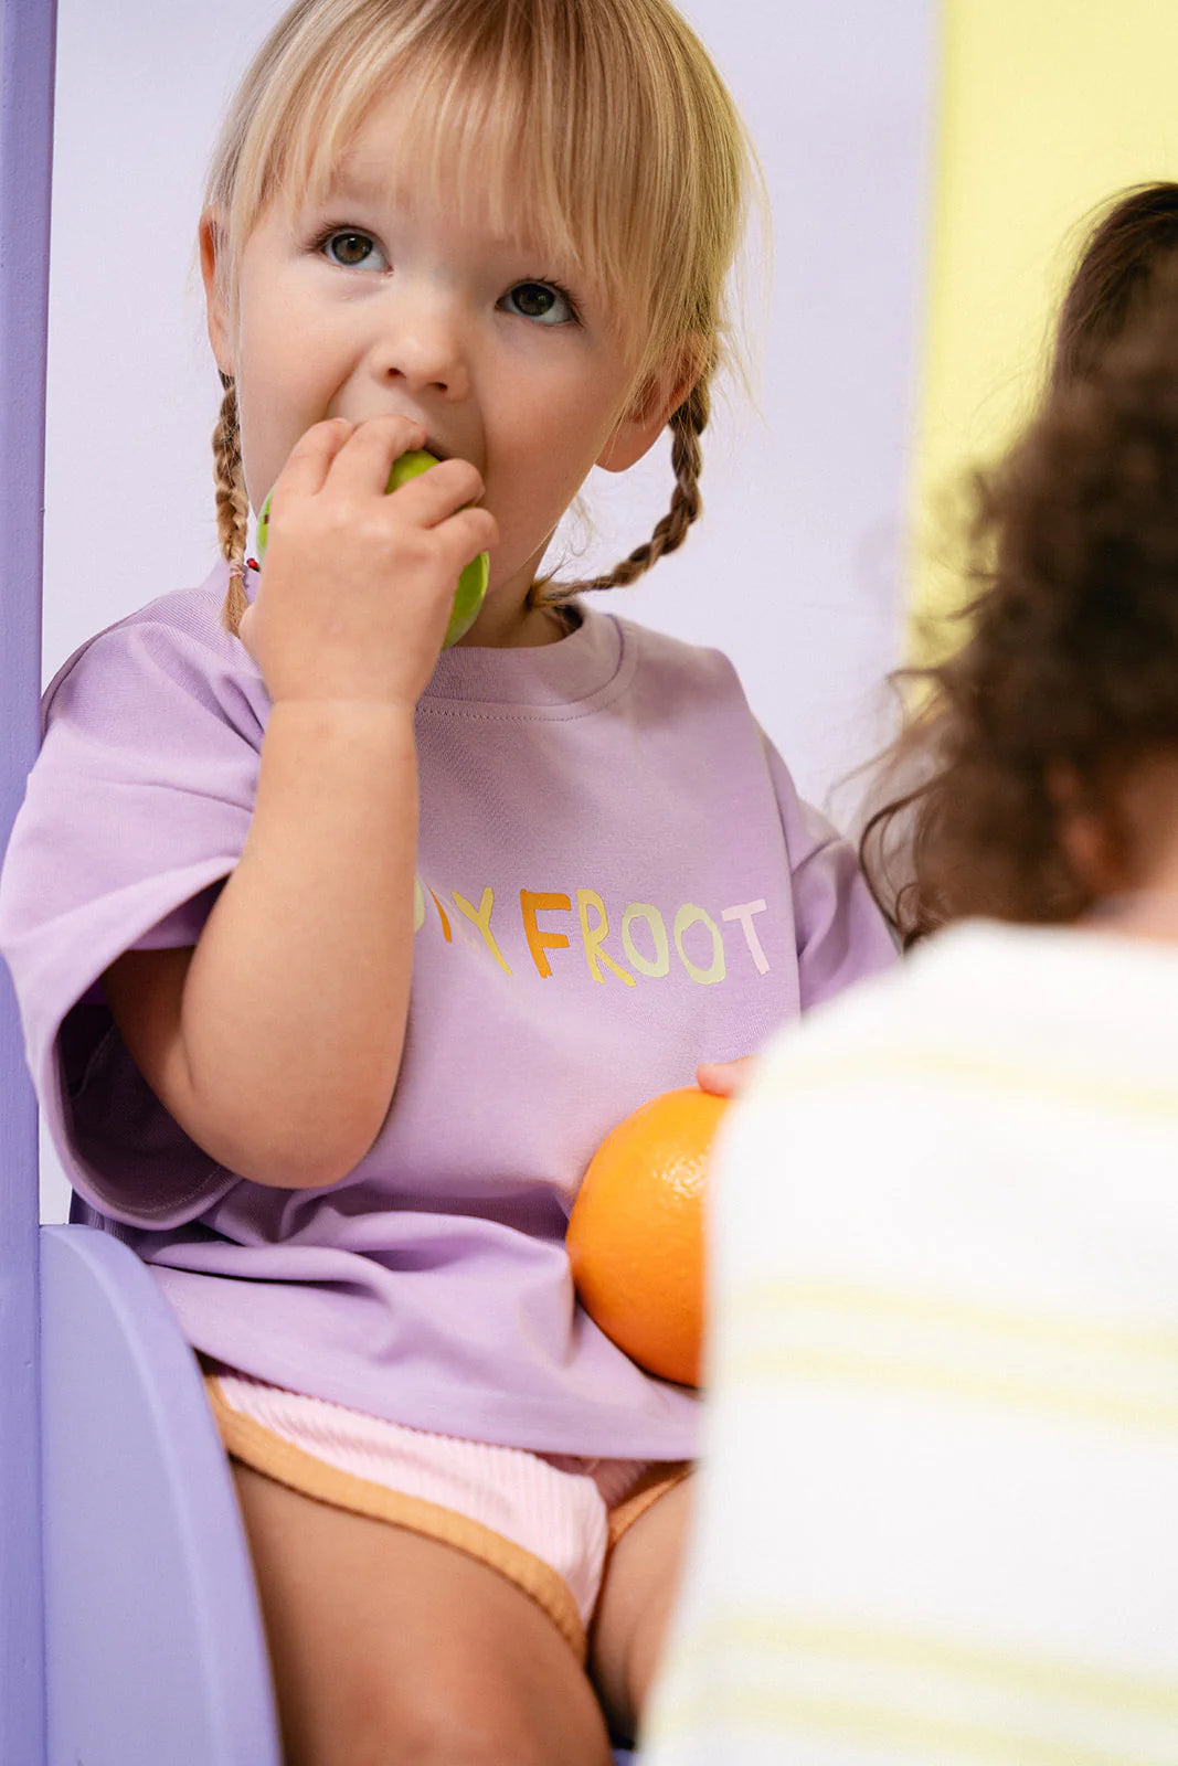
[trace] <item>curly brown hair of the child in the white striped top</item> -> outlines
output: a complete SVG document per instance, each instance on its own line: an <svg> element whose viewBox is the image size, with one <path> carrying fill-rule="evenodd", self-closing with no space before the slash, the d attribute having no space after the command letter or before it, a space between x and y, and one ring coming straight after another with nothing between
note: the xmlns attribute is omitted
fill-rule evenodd
<svg viewBox="0 0 1178 1766"><path fill-rule="evenodd" d="M1178 752L1178 265L978 479L973 558L971 636L913 671L933 694L890 756L917 782L862 841L906 945L968 915L1076 918L1095 885L1065 811L1116 846L1127 777Z"/></svg>

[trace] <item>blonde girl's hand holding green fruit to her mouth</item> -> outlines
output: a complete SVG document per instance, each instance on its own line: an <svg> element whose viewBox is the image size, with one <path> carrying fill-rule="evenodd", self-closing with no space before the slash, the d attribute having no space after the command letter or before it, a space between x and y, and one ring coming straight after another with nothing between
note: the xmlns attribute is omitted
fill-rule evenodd
<svg viewBox="0 0 1178 1766"><path fill-rule="evenodd" d="M473 509L482 479L442 461L385 494L394 459L426 445L404 417L330 419L295 443L270 500L261 586L242 641L270 698L410 708L433 673L454 586L498 539Z"/></svg>

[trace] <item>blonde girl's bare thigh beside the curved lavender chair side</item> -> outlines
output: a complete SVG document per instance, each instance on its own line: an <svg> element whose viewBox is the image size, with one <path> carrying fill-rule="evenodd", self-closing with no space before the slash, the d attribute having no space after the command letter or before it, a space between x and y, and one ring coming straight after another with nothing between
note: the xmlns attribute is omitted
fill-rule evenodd
<svg viewBox="0 0 1178 1766"><path fill-rule="evenodd" d="M487 1565L233 1464L286 1766L608 1766L553 1621Z"/></svg>

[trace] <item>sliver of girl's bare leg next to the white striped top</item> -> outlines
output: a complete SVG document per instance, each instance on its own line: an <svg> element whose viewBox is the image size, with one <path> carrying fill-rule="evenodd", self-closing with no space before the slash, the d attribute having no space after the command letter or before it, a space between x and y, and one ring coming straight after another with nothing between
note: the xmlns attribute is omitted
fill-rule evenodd
<svg viewBox="0 0 1178 1766"><path fill-rule="evenodd" d="M590 1674L620 1736L634 1736L659 1669L691 1521L692 1478L673 1485L609 1552Z"/></svg>

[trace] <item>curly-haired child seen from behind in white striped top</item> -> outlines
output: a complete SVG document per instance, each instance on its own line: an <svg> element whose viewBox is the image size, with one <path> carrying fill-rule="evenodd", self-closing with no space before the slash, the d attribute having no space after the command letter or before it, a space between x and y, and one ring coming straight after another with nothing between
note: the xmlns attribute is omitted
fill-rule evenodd
<svg viewBox="0 0 1178 1766"><path fill-rule="evenodd" d="M733 1113L652 1766L1178 1759L1174 265L978 539L906 745L917 906L991 918L782 1035Z"/></svg>

